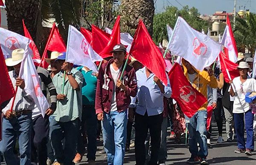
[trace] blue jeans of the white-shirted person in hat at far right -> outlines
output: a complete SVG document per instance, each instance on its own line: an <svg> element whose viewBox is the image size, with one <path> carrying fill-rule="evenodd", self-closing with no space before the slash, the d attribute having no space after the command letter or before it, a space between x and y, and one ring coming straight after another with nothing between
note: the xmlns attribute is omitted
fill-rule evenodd
<svg viewBox="0 0 256 165"><path fill-rule="evenodd" d="M244 140L244 119L245 119L245 129L246 129L246 145ZM249 110L245 113L234 114L234 122L236 128L236 138L237 145L240 149L254 149L254 140L253 140L253 114Z"/></svg>

